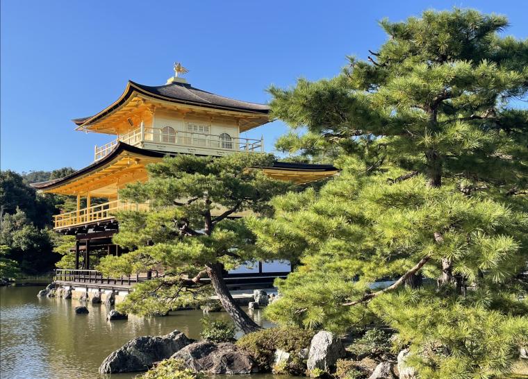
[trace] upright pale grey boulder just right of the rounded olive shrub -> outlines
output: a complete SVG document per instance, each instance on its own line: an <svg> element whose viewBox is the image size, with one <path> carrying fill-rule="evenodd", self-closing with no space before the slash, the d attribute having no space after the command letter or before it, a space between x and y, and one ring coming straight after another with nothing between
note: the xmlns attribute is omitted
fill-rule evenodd
<svg viewBox="0 0 528 379"><path fill-rule="evenodd" d="M341 339L331 332L324 330L313 336L308 351L308 371L320 369L330 372L337 360L345 356L345 348Z"/></svg>

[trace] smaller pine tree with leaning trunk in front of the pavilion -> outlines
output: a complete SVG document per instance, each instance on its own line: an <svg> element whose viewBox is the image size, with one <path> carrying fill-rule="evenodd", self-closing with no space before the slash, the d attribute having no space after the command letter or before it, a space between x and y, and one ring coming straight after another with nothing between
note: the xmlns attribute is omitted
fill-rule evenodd
<svg viewBox="0 0 528 379"><path fill-rule="evenodd" d="M150 210L118 214L114 241L131 252L101 260L99 269L112 275L165 270L162 278L136 285L122 308L163 314L205 301L212 285L236 326L244 332L256 330L256 323L234 303L223 273L267 258L255 248L245 224L229 217L244 211L267 214L267 201L290 187L255 169L272 165L273 159L256 153L222 158L177 155L149 165L147 183L122 189L122 199L149 201Z"/></svg>

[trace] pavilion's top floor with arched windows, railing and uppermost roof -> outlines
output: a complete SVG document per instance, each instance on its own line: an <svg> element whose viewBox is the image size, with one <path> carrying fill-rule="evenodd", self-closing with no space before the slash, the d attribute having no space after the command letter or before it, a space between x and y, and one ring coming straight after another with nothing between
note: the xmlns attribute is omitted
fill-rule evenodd
<svg viewBox="0 0 528 379"><path fill-rule="evenodd" d="M129 81L110 106L73 121L76 130L115 136L95 146L94 160L108 155L117 142L168 153L220 156L263 152L262 138L242 133L266 124L269 112L264 104L229 99L171 78L158 86Z"/></svg>

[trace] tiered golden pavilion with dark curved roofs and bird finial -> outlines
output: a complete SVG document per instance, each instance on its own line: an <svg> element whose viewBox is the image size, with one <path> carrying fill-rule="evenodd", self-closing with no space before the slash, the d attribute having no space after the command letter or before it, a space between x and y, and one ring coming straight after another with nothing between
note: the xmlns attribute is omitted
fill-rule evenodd
<svg viewBox="0 0 528 379"><path fill-rule="evenodd" d="M190 85L174 65L174 76L165 85L149 86L129 81L119 99L90 117L74 119L76 130L115 136L95 146L94 161L64 178L33 183L40 192L76 196L73 212L57 214L54 229L76 235L76 255L84 253L82 269L90 269L90 251L120 253L111 237L119 223L115 212L148 211L147 204L119 200L119 189L137 180L148 180L145 167L165 155L222 156L237 152L264 152L263 138L242 133L270 122L270 108L263 104L229 99ZM280 180L308 183L337 173L331 165L275 162L260 167ZM94 205L92 199L97 198ZM101 203L100 199L105 199ZM85 201L81 201L85 200ZM81 208L81 204L86 206ZM79 269L77 263L76 269Z"/></svg>

